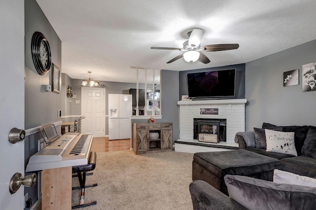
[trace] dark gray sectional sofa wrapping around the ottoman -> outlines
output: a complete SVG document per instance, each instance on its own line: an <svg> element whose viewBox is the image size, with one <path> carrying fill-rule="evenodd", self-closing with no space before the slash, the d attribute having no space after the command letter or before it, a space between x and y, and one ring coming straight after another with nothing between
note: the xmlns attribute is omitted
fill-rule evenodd
<svg viewBox="0 0 316 210"><path fill-rule="evenodd" d="M259 129L255 128L252 132L237 133L235 141L238 143L239 149L245 149L251 152L278 159L280 161L279 170L291 172L297 175L316 178L316 127L276 126L270 123L263 123L262 129L276 130L282 132L294 132L294 144L297 156L276 152L267 152L266 148L258 148L262 147L262 145L256 145L256 143L258 144L258 140L256 139L256 137L258 137L258 133L255 134L255 131L257 132ZM240 185L240 187L242 186ZM243 206L230 199L224 193L202 180L195 180L190 184L190 193L193 201L194 210L245 209ZM306 208L302 205L302 208L298 209L315 209L315 205L312 206L313 207ZM271 208L273 209L273 207ZM291 205L285 209L296 208Z"/></svg>

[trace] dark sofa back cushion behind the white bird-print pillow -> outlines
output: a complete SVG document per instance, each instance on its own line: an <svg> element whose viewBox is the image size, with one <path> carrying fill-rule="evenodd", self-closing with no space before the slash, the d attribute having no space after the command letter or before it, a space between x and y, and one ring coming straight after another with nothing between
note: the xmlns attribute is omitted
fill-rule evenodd
<svg viewBox="0 0 316 210"><path fill-rule="evenodd" d="M275 127L282 127L282 131L284 132L294 132L295 133L295 137L294 137L294 141L295 141L295 148L296 148L296 152L297 155L302 155L302 147L304 144L304 140L306 138L309 126L304 125L304 126L276 126L270 123L263 123L262 124L262 128L264 129L273 129Z"/></svg>

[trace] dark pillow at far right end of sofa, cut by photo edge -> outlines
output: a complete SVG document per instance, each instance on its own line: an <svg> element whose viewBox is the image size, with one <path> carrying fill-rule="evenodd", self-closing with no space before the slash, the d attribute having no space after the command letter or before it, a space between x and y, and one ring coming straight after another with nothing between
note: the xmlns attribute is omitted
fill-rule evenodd
<svg viewBox="0 0 316 210"><path fill-rule="evenodd" d="M316 127L310 126L302 147L302 154L316 158Z"/></svg>

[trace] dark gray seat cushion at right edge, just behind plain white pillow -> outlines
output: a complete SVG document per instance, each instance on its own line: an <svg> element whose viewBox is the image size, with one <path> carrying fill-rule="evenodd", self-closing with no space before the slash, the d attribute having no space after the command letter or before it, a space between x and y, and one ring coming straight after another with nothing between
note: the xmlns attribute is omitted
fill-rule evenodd
<svg viewBox="0 0 316 210"><path fill-rule="evenodd" d="M280 159L281 170L291 172L297 175L316 177L316 159L300 155Z"/></svg>

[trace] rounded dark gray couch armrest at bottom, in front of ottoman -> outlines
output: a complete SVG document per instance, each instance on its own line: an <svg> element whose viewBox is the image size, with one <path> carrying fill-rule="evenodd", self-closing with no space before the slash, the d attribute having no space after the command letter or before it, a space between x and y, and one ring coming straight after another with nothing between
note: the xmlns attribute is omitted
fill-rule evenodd
<svg viewBox="0 0 316 210"><path fill-rule="evenodd" d="M236 201L202 180L190 183L194 210L246 210Z"/></svg>

